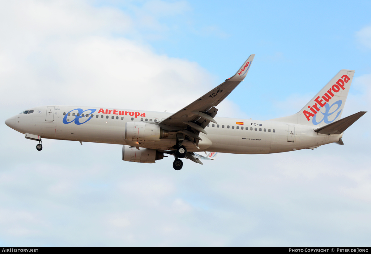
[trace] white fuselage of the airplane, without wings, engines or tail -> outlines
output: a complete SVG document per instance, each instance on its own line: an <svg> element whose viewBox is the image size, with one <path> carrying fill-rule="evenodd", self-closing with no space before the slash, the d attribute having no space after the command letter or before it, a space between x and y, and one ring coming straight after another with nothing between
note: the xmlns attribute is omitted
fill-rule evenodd
<svg viewBox="0 0 371 254"><path fill-rule="evenodd" d="M139 144L124 139L125 123L157 123L172 113L76 106L43 106L29 110L33 110L33 113L9 118L7 125L23 134L34 134L41 138L122 144L159 150L174 150L173 146L176 144L175 132L170 132L167 138ZM315 127L300 124L227 117L215 117L215 120L217 124L210 123L205 128L207 134L200 133L202 141L199 141L198 147L191 141L183 142L187 151L280 153L337 142L342 136L319 134L314 131Z"/></svg>

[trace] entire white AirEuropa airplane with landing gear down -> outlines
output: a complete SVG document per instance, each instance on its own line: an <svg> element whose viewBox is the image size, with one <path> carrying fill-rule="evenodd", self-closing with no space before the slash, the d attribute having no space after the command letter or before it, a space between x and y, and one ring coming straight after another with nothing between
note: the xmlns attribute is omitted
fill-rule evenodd
<svg viewBox="0 0 371 254"><path fill-rule="evenodd" d="M218 104L246 77L255 54L232 77L176 113L81 106L41 106L5 121L25 138L121 144L122 160L155 163L166 155L203 164L217 153L268 154L344 144L344 131L366 112L341 119L354 76L341 70L298 113L271 120L216 117ZM213 151L202 156L196 152Z"/></svg>

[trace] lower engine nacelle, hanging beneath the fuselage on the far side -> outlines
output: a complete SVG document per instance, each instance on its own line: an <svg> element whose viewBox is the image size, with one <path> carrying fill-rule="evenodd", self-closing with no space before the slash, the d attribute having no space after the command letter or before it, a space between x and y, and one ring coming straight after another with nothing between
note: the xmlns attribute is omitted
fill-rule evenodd
<svg viewBox="0 0 371 254"><path fill-rule="evenodd" d="M122 146L122 160L141 163L155 163L156 160L162 160L164 153L160 153L155 149Z"/></svg>

